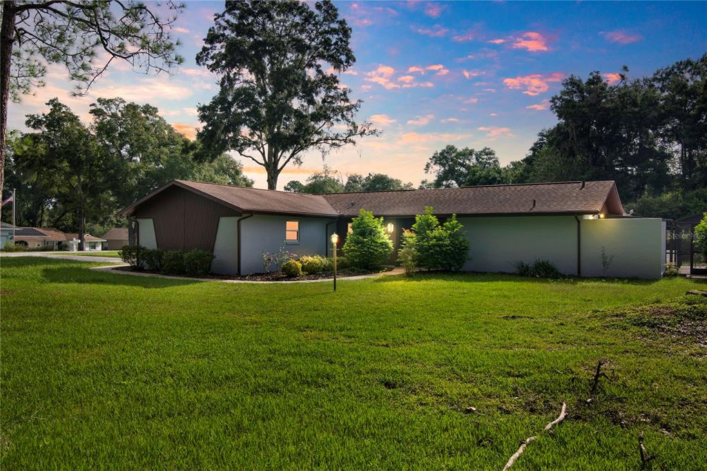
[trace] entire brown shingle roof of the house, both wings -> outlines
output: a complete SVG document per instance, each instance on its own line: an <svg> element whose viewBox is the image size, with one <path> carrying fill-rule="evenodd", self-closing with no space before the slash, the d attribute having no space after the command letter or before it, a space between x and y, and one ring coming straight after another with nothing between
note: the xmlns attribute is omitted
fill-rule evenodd
<svg viewBox="0 0 707 471"><path fill-rule="evenodd" d="M487 185L332 194L301 194L232 187L216 183L174 180L120 211L127 216L135 207L166 188L178 185L243 212L355 216L360 209L376 216L414 216L432 206L436 214L624 214L612 181Z"/></svg>

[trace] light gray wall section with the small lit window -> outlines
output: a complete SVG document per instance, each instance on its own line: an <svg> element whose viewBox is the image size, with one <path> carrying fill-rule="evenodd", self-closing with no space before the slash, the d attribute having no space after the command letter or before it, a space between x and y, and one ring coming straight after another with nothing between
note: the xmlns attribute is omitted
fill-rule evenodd
<svg viewBox="0 0 707 471"><path fill-rule="evenodd" d="M287 221L300 223L300 240L297 244L285 242ZM325 255L327 223L332 221L335 219L265 214L256 214L248 219L243 219L240 226L241 274L262 272L262 252L277 252L281 247L296 255ZM334 224L331 227L333 226ZM276 267L272 267L272 269L276 269Z"/></svg>

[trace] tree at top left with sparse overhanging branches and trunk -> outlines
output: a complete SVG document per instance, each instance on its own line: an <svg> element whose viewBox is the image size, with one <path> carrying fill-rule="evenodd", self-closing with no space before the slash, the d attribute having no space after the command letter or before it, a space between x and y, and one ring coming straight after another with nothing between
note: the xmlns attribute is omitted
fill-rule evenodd
<svg viewBox="0 0 707 471"><path fill-rule="evenodd" d="M4 183L7 107L42 86L49 64L62 64L86 93L115 59L141 71L180 64L169 30L183 6L167 1L168 16L137 0L4 0L0 2L0 192ZM101 57L99 52L103 52Z"/></svg>

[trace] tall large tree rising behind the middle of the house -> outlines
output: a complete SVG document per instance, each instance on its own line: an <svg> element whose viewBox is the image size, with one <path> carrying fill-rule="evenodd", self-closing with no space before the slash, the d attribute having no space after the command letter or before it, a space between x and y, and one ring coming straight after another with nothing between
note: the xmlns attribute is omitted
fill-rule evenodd
<svg viewBox="0 0 707 471"><path fill-rule="evenodd" d="M235 151L261 165L267 184L308 149L327 152L375 134L357 123L337 72L354 61L351 28L329 0L229 1L197 55L221 90L199 107L206 155Z"/></svg>

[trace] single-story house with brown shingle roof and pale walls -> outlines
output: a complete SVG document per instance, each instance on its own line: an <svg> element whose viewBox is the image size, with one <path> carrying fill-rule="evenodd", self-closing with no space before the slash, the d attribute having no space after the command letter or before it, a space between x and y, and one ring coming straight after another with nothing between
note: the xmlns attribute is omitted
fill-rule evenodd
<svg viewBox="0 0 707 471"><path fill-rule="evenodd" d="M464 226L475 272L513 272L549 260L565 274L658 279L665 222L624 212L612 181L485 185L434 190L298 194L173 180L120 211L147 248L214 252L213 272L262 272L262 253L330 255L359 209L382 216L395 245L416 214L434 207Z"/></svg>

